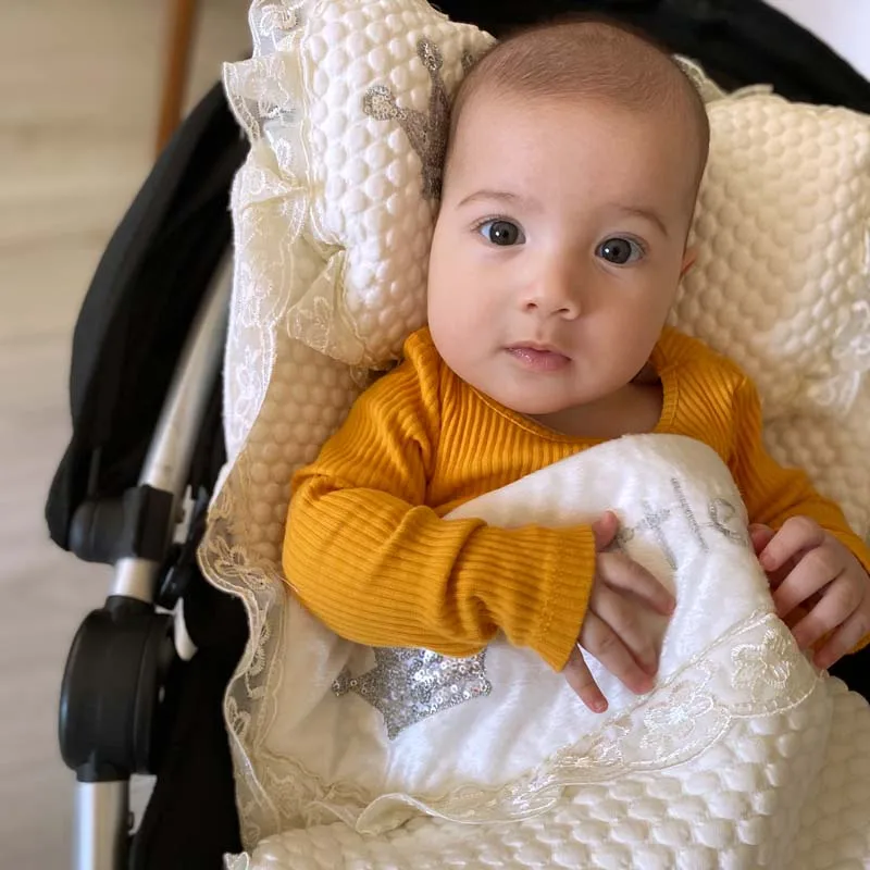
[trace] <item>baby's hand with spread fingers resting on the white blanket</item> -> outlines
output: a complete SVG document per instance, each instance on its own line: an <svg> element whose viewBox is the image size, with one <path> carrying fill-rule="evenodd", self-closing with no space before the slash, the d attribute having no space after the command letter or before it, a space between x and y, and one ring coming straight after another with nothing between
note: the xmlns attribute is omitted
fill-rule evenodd
<svg viewBox="0 0 870 870"><path fill-rule="evenodd" d="M618 527L617 517L610 512L593 525L598 551L595 584L577 645L563 671L581 700L598 713L607 709L607 699L589 673L580 647L595 656L632 692L649 692L659 667L662 633L643 619L644 611L669 617L675 606L673 596L649 571L627 556L604 551Z"/></svg>

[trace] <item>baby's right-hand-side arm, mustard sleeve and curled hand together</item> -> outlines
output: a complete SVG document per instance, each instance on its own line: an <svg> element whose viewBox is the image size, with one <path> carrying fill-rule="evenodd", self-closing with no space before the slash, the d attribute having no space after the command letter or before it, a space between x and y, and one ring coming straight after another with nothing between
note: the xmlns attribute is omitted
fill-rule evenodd
<svg viewBox="0 0 870 870"><path fill-rule="evenodd" d="M817 656L821 667L830 667L842 652L870 643L870 549L803 471L782 468L767 452L760 401L748 380L735 395L732 471L750 521L761 526L754 540L774 580L781 616L801 604L809 610L794 625L801 646L837 630L840 637Z"/></svg>

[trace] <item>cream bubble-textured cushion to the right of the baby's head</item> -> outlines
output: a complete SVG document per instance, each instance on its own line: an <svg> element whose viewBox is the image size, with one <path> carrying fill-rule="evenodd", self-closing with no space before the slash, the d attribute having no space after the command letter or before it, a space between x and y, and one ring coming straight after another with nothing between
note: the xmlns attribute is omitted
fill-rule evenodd
<svg viewBox="0 0 870 870"><path fill-rule="evenodd" d="M708 113L674 322L755 378L769 420L845 413L870 369L870 117L763 92Z"/></svg>

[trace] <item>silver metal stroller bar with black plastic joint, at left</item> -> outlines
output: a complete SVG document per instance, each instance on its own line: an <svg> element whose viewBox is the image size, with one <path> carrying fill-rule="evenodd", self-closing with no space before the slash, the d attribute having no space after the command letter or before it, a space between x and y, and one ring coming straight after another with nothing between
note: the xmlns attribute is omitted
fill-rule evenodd
<svg viewBox="0 0 870 870"><path fill-rule="evenodd" d="M231 287L227 254L203 296L132 490L145 494L129 501L129 510L136 513L133 524L152 526L145 535L151 538L149 558L117 559L105 605L88 614L70 650L59 731L64 761L77 780L74 870L127 867L129 776L152 767L162 687L176 658L172 616L157 612L153 601L173 531L184 520L182 499L220 371Z"/></svg>

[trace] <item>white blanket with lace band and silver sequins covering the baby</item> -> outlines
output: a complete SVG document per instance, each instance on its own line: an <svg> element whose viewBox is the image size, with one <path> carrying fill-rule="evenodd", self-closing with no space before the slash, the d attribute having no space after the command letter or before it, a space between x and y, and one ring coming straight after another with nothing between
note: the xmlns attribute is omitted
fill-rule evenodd
<svg viewBox="0 0 870 870"><path fill-rule="evenodd" d="M610 700L595 716L504 641L469 659L372 650L291 602L263 751L295 826L228 867L870 867L870 709L773 616L712 450L623 438L452 515L607 509L676 592L650 695L593 662Z"/></svg>

